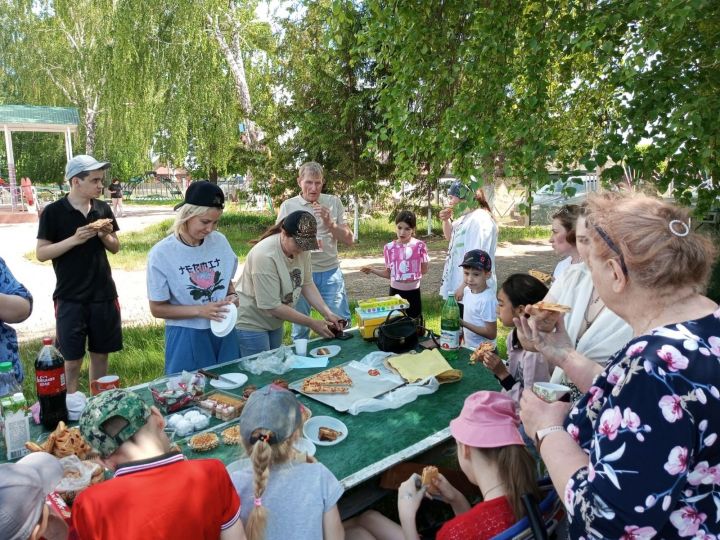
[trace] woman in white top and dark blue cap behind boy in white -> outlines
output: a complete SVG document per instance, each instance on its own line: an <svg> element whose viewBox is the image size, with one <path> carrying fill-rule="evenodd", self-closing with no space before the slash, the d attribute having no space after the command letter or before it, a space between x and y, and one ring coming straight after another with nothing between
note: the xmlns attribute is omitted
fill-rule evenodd
<svg viewBox="0 0 720 540"><path fill-rule="evenodd" d="M492 289L493 293L497 290L495 249L497 248L498 228L490 213L490 205L482 188L478 188L473 196L470 188L456 181L450 186L448 197L450 206L440 211L443 235L446 240L450 241L443 269L440 296L447 298L451 294L454 295L460 304L460 315L462 316L465 282L460 264L468 251L481 249L490 255L492 278L488 281L488 287ZM453 208L463 200L469 202L471 198L477 204L477 208L467 208L460 217L453 219Z"/></svg>

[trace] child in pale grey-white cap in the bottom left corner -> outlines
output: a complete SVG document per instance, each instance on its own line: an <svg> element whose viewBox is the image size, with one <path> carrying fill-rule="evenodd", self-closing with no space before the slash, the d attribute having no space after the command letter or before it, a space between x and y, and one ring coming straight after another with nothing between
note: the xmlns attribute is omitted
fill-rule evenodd
<svg viewBox="0 0 720 540"><path fill-rule="evenodd" d="M60 462L45 452L0 465L0 538L42 538L50 517L45 497L55 490L62 476Z"/></svg>

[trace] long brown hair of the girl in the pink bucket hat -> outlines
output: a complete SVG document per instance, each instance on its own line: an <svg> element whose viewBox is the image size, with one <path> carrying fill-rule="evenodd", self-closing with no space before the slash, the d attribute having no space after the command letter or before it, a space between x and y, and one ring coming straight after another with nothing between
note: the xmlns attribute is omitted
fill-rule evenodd
<svg viewBox="0 0 720 540"><path fill-rule="evenodd" d="M529 493L540 502L535 460L527 448L518 444L498 448L470 448L480 452L485 459L497 466L498 475L505 487L505 496L516 520L523 518L526 513L522 502L524 494Z"/></svg>

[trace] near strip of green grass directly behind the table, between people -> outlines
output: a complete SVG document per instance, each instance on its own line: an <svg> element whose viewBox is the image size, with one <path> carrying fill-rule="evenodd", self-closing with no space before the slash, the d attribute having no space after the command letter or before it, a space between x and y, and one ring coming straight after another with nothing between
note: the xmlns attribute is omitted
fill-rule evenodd
<svg viewBox="0 0 720 540"><path fill-rule="evenodd" d="M440 330L440 311L442 310L442 299L436 295L423 295L423 312L425 323L428 328L438 332ZM351 302L350 311L353 313L353 326L355 321L355 307L357 302ZM319 315L313 311L313 315ZM509 329L498 323L498 348L500 355L505 356L505 337ZM123 329L123 340L125 348L110 355L110 373L119 375L123 386L132 386L143 382L152 381L160 377L165 368L165 330L162 325L130 326ZM285 344L290 344L290 325L285 325ZM20 358L25 370L25 381L23 392L25 397L33 403L35 395L35 368L34 362L42 340L33 340L20 345ZM80 375L80 390L89 394L87 368L89 359L83 362L83 370Z"/></svg>

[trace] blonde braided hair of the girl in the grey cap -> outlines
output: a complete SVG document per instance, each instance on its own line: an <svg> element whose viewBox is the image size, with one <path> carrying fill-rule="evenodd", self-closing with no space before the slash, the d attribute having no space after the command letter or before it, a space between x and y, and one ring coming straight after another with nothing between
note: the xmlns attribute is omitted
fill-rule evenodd
<svg viewBox="0 0 720 540"><path fill-rule="evenodd" d="M253 431L252 436L263 436L254 444L249 445L243 441L245 451L250 456L253 466L253 493L255 499L261 499L267 488L267 481L270 476L270 467L288 461L293 454L293 442L297 438L299 430L296 430L288 439L281 443L269 444L264 435L272 435L271 431L258 428ZM246 502L250 504L250 502ZM268 510L263 504L254 504L248 516L245 526L245 535L248 540L263 540L265 528L267 527Z"/></svg>

